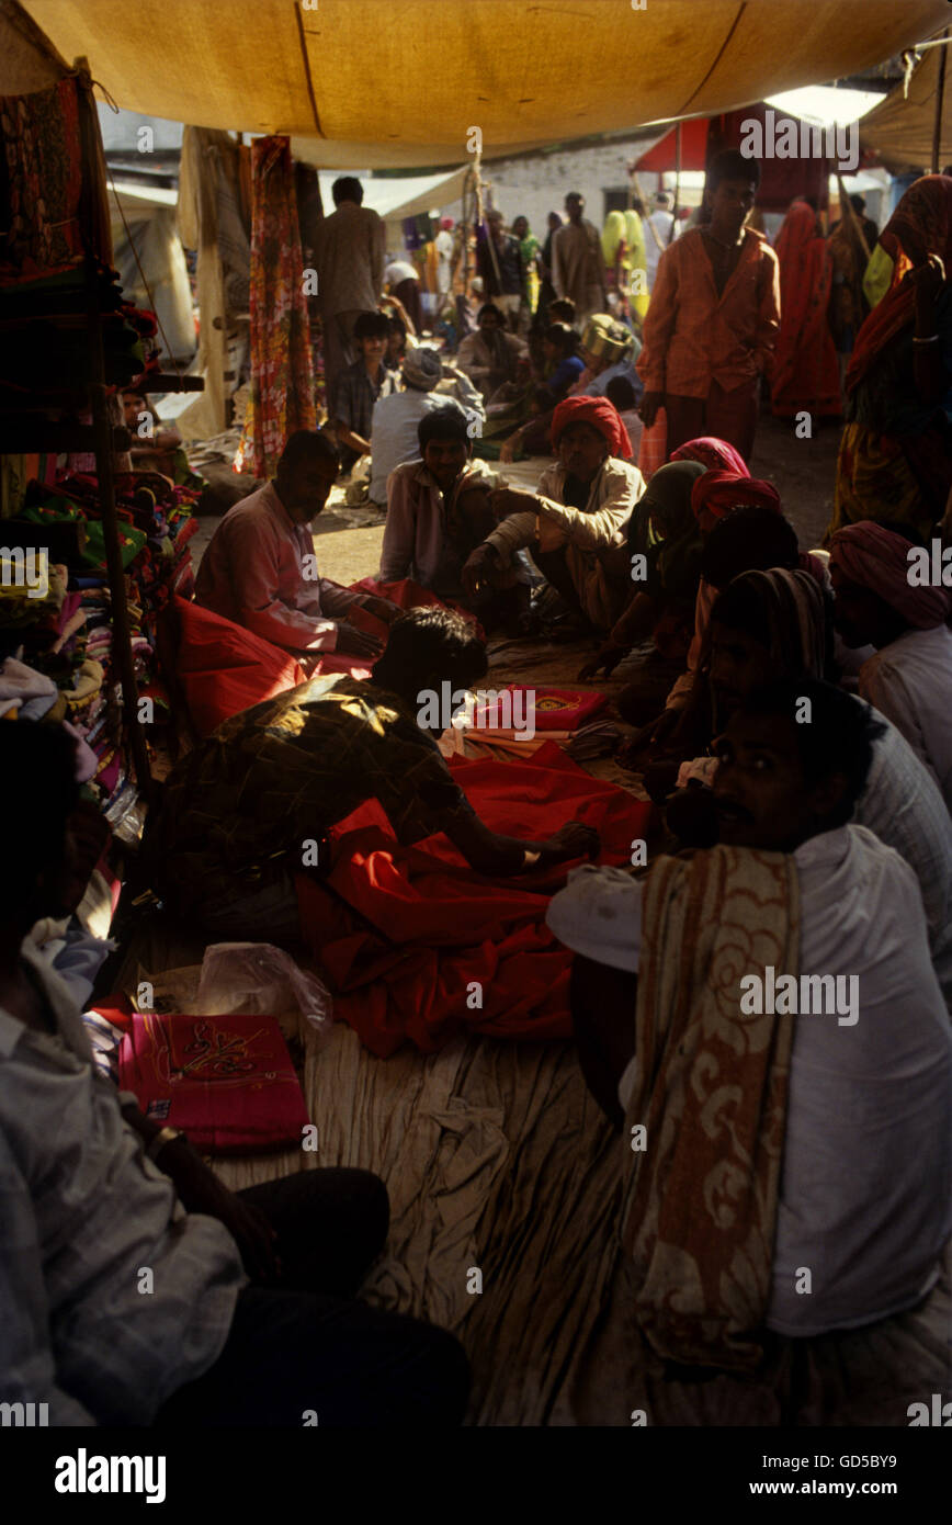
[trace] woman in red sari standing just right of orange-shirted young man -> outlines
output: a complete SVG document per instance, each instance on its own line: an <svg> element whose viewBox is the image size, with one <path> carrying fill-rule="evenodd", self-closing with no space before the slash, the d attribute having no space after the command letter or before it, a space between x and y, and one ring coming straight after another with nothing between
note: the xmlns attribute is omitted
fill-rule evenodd
<svg viewBox="0 0 952 1525"><path fill-rule="evenodd" d="M793 201L775 244L780 259L780 337L770 398L778 418L839 416L836 348L827 322L833 267L807 201Z"/></svg>

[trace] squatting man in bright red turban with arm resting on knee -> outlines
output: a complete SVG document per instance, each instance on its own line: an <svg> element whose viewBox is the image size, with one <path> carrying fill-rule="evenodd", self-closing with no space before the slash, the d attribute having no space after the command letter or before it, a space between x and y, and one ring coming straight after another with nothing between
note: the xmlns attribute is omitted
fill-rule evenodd
<svg viewBox="0 0 952 1525"><path fill-rule="evenodd" d="M514 554L528 547L578 628L609 631L630 596L626 529L645 482L629 465L629 436L606 398L560 403L552 445L558 461L542 473L536 493L499 488L493 494L502 523L473 551L462 586L468 598L487 584L505 586Z"/></svg>

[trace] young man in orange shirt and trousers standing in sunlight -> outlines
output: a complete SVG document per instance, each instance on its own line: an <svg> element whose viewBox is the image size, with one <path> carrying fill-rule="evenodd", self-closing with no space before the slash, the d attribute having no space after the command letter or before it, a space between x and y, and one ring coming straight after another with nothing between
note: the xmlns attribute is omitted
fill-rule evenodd
<svg viewBox="0 0 952 1525"><path fill-rule="evenodd" d="M667 456L688 439L714 435L749 462L760 377L780 331L780 264L763 233L745 227L760 169L726 149L711 160L705 188L709 221L690 227L661 256L644 320L638 372L650 429L664 407Z"/></svg>

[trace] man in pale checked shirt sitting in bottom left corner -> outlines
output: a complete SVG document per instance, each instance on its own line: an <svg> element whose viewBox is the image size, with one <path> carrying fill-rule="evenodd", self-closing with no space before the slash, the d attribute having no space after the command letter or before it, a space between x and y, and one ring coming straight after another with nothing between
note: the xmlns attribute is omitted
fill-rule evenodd
<svg viewBox="0 0 952 1525"><path fill-rule="evenodd" d="M69 912L73 743L21 721L0 863L0 1400L58 1426L456 1424L456 1340L352 1301L388 1234L383 1182L313 1170L230 1193L185 1135L96 1071L24 942ZM153 1286L142 1295L142 1267Z"/></svg>

